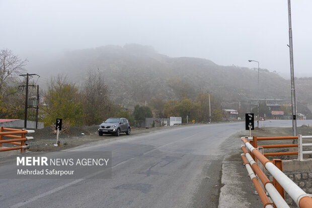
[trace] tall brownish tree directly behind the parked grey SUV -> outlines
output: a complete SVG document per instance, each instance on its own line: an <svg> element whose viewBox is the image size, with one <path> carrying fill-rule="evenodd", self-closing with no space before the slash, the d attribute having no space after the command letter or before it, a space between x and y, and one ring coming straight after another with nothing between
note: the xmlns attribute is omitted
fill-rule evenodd
<svg viewBox="0 0 312 208"><path fill-rule="evenodd" d="M113 115L114 103L110 90L104 83L103 73L90 70L83 86L85 123L99 124Z"/></svg>

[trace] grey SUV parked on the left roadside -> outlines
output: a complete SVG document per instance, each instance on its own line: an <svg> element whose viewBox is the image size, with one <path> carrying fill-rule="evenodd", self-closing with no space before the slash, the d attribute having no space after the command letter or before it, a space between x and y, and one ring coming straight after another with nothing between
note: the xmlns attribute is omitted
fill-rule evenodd
<svg viewBox="0 0 312 208"><path fill-rule="evenodd" d="M126 135L129 135L131 132L130 123L125 118L109 118L99 125L100 136L103 136L103 134L119 136L122 132L126 133Z"/></svg>

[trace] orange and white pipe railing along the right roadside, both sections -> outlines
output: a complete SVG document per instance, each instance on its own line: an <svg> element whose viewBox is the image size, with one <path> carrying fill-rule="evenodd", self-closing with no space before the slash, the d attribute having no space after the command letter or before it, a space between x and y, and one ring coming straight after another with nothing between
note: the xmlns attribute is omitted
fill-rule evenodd
<svg viewBox="0 0 312 208"><path fill-rule="evenodd" d="M297 137L242 137L244 145L242 145L243 154L242 159L248 171L248 174L255 185L255 188L260 196L260 199L265 208L271 207L289 207L285 201L285 192L295 201L298 207L307 208L312 207L311 194L305 193L297 184L288 178L282 172L282 161L280 159L273 159L269 161L265 156L277 155L298 155L298 160L303 160L303 154L311 154L311 151L302 151L302 146L312 146L312 144L302 144L302 138L309 139L310 136L297 136ZM258 145L260 140L285 140L285 139L298 139L298 144L287 145ZM285 148L285 147L298 147L298 152L282 152L282 153L264 153L264 148ZM300 150L301 148L301 150ZM259 151L260 150L260 151ZM257 161L259 161L257 163ZM271 182L264 173L264 168L273 176ZM259 182L260 179L261 183ZM268 192L273 203L266 195L265 190Z"/></svg>

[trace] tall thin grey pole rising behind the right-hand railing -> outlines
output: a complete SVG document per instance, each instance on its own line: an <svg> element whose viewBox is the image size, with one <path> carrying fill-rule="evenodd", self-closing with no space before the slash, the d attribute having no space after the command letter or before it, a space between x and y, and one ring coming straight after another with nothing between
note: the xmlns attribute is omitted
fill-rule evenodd
<svg viewBox="0 0 312 208"><path fill-rule="evenodd" d="M291 9L290 0L288 0L288 26L289 26L289 56L290 56L290 81L291 81L291 111L292 111L292 136L297 136L297 107L295 96L295 79L293 72L293 48L292 48L292 29L291 29ZM297 144L297 140L292 141L293 144Z"/></svg>

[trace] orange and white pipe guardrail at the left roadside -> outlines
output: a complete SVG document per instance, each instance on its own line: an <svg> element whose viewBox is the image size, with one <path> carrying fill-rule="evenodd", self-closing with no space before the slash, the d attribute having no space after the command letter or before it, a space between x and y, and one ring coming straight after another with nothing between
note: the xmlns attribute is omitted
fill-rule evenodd
<svg viewBox="0 0 312 208"><path fill-rule="evenodd" d="M33 137L26 137L26 134L34 133L34 130L25 130L25 129L10 129L0 127L0 147L3 147L4 143L18 145L17 147L6 147L0 148L0 152L10 151L10 150L21 150L21 153L24 153L26 149L29 148L29 145L26 145L27 140L34 139ZM18 136L20 134L21 136ZM4 137L15 138L15 139L6 139Z"/></svg>

